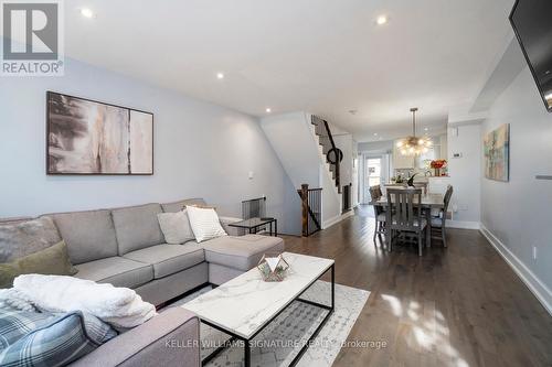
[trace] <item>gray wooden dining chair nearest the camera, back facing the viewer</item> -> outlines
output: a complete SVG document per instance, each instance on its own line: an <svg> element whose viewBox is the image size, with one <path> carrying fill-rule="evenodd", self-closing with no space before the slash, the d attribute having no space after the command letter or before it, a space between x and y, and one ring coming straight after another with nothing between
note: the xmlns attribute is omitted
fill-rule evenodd
<svg viewBox="0 0 552 367"><path fill-rule="evenodd" d="M394 233L414 233L417 236L417 251L422 256L422 246L427 229L427 220L422 211L414 207L422 203L422 188L388 188L388 217L390 249L393 248ZM399 237L399 236L397 236Z"/></svg>

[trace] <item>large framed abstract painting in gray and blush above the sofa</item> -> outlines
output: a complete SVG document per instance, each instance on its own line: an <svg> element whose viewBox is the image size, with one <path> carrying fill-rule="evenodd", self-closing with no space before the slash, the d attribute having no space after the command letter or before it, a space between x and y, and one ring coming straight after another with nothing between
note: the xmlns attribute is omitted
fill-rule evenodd
<svg viewBox="0 0 552 367"><path fill-rule="evenodd" d="M153 115L49 91L47 174L153 174Z"/></svg>

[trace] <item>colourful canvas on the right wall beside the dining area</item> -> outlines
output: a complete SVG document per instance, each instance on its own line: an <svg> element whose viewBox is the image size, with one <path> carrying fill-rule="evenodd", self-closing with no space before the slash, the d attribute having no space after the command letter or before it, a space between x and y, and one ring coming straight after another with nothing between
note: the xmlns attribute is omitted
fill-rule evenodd
<svg viewBox="0 0 552 367"><path fill-rule="evenodd" d="M490 180L510 180L510 126L501 125L484 139L485 176Z"/></svg>

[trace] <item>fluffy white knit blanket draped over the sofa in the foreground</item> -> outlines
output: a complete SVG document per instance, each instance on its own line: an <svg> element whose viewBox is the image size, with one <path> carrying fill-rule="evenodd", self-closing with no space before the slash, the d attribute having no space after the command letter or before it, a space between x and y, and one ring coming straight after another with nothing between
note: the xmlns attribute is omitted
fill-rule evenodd
<svg viewBox="0 0 552 367"><path fill-rule="evenodd" d="M131 289L73 277L19 276L13 289L39 310L83 311L119 330L138 326L157 314L156 307Z"/></svg>

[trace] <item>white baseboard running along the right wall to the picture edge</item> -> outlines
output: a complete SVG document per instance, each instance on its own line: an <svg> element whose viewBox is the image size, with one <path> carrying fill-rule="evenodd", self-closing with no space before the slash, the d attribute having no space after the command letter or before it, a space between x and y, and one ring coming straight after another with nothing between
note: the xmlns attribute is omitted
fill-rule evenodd
<svg viewBox="0 0 552 367"><path fill-rule="evenodd" d="M537 296L539 302L544 306L550 315L552 315L552 292L518 257L510 251L484 224L480 225L481 234L495 247L498 253L512 268L529 290Z"/></svg>

